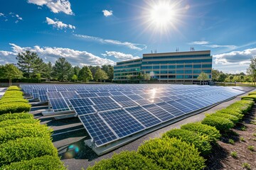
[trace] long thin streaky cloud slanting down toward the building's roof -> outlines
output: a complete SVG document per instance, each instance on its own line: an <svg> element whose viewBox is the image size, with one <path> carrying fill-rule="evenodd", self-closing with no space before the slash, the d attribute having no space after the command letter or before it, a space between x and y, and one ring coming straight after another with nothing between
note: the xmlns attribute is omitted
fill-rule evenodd
<svg viewBox="0 0 256 170"><path fill-rule="evenodd" d="M121 42L119 40L105 40L103 38L92 37L92 36L89 36L89 35L80 35L80 34L74 34L74 35L75 35L75 37L83 38L83 39L86 39L86 40L93 40L93 41L106 43L106 44L112 44L112 45L122 45L122 46L125 46L125 47L129 47L132 50L144 50L144 49L146 49L146 45L135 44L135 43L132 43L132 42Z"/></svg>

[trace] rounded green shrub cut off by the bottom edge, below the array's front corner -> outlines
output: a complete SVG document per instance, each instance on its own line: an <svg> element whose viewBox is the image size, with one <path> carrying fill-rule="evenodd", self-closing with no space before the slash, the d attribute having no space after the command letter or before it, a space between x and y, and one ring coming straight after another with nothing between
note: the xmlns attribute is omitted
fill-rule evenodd
<svg viewBox="0 0 256 170"><path fill-rule="evenodd" d="M103 159L97 162L95 166L89 167L87 170L92 169L161 169L151 159L143 157L142 154L137 152L121 152L114 154L111 159Z"/></svg>

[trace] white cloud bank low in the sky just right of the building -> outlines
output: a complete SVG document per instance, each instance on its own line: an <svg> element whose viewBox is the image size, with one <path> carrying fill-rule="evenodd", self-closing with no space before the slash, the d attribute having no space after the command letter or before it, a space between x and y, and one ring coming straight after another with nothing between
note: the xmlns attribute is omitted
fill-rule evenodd
<svg viewBox="0 0 256 170"><path fill-rule="evenodd" d="M256 55L256 48L250 48L243 51L233 51L220 55L213 55L215 64L240 64L250 63L250 58Z"/></svg>

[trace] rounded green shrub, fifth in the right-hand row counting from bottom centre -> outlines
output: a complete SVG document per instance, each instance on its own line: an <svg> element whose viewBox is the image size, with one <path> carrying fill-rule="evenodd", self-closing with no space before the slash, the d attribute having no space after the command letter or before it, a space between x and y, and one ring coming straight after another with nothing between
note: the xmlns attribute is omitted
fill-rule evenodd
<svg viewBox="0 0 256 170"><path fill-rule="evenodd" d="M220 131L227 131L234 127L234 123L226 118L220 118L216 116L207 116L202 120L202 124L210 125Z"/></svg>

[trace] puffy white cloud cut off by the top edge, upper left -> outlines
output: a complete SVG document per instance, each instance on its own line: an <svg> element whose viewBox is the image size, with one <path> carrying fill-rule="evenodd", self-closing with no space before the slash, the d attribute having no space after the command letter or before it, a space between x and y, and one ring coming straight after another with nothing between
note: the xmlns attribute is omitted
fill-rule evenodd
<svg viewBox="0 0 256 170"><path fill-rule="evenodd" d="M71 4L68 0L28 0L30 4L36 4L38 6L47 6L53 13L63 12L68 15L73 15L71 10Z"/></svg>

